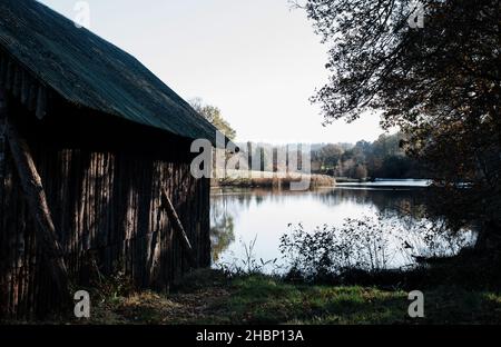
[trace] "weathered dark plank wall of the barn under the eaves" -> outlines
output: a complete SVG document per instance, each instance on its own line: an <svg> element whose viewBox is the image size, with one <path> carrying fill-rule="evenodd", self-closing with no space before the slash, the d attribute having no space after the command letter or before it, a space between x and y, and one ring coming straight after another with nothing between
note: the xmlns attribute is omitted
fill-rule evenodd
<svg viewBox="0 0 501 347"><path fill-rule="evenodd" d="M55 133L36 136L33 129L37 125L23 133L72 280L86 285L97 271L120 270L140 287L163 289L187 270L179 238L160 208L161 188L181 219L197 265L209 265L209 181L193 178L188 157L168 156L168 151L188 150L185 145L173 142L161 150L167 156L158 156L140 148L61 145ZM0 161L0 316L43 316L57 309L59 298L7 149L4 159Z"/></svg>

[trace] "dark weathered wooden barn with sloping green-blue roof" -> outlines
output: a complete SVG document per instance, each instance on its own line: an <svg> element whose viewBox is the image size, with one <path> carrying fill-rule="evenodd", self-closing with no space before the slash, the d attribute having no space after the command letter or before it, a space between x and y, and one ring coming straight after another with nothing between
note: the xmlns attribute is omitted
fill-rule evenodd
<svg viewBox="0 0 501 347"><path fill-rule="evenodd" d="M190 175L190 143L215 131L125 51L2 0L0 316L42 316L96 276L163 289L209 266L209 180Z"/></svg>

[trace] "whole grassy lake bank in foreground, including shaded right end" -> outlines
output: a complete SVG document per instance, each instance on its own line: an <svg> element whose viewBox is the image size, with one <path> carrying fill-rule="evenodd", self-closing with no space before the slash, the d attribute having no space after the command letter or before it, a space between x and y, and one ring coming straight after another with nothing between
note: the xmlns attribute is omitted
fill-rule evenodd
<svg viewBox="0 0 501 347"><path fill-rule="evenodd" d="M471 249L413 270L347 270L315 282L212 269L190 272L169 293L136 290L124 276L88 288L91 318L43 324L501 324L499 255ZM410 318L409 291L424 294L424 318ZM12 324L12 321L7 321Z"/></svg>

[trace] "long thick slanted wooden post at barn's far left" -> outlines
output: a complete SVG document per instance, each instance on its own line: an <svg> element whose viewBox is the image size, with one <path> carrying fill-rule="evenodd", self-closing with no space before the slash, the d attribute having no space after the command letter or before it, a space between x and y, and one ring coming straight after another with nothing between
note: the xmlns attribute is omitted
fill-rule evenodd
<svg viewBox="0 0 501 347"><path fill-rule="evenodd" d="M9 118L7 96L1 89L0 115L0 119L3 118L6 120L4 130L10 153L14 161L29 210L33 217L37 236L42 242L41 247L47 256L48 268L58 290L57 293L61 295L62 305L67 305L70 303L68 270L47 204L46 192L28 143L19 136L14 123Z"/></svg>

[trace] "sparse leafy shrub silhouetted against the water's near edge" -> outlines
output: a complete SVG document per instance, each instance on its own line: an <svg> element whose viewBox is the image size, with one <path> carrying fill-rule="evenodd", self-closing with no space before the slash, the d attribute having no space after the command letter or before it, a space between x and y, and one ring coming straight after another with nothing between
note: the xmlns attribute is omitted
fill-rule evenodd
<svg viewBox="0 0 501 347"><path fill-rule="evenodd" d="M317 281L348 272L389 270L395 267L396 257L400 269L415 266L420 259L458 254L474 241L471 232L446 231L428 219L410 226L385 215L347 218L341 227L325 225L312 232L299 224L282 236L279 250L287 260L289 278Z"/></svg>

